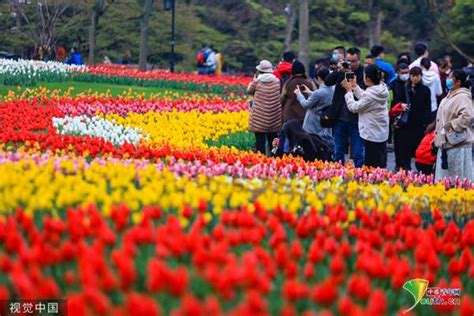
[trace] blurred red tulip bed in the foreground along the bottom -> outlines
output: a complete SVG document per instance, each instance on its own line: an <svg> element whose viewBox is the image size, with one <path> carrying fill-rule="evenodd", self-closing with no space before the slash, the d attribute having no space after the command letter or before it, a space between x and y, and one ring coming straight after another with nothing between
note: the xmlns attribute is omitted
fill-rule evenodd
<svg viewBox="0 0 474 316"><path fill-rule="evenodd" d="M411 305L404 282L422 277L463 296L417 314L474 311L472 221L251 205L18 210L0 222L0 299L65 297L69 315L394 315Z"/></svg>

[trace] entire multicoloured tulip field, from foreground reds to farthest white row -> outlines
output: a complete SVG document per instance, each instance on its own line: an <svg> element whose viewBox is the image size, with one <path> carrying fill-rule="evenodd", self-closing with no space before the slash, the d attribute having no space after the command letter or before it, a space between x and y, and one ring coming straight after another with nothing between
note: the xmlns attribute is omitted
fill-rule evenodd
<svg viewBox="0 0 474 316"><path fill-rule="evenodd" d="M0 59L0 315L474 315L474 184L257 154L249 82Z"/></svg>

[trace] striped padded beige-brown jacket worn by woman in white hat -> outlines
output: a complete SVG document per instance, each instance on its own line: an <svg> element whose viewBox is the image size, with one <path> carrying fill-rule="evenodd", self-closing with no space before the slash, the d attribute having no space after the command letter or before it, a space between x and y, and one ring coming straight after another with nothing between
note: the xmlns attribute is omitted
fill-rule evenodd
<svg viewBox="0 0 474 316"><path fill-rule="evenodd" d="M247 88L254 96L250 109L249 130L254 133L278 132L282 125L280 80L273 74L261 74Z"/></svg>

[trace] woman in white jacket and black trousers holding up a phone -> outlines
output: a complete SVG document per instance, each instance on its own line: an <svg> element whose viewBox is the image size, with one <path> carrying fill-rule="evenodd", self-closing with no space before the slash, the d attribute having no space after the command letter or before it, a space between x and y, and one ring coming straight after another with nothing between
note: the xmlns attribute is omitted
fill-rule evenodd
<svg viewBox="0 0 474 316"><path fill-rule="evenodd" d="M382 71L377 65L368 65L364 69L364 83L367 86L365 91L354 79L344 80L342 84L347 91L345 95L347 108L359 114L359 133L365 147L364 165L386 168L389 93L382 76Z"/></svg>

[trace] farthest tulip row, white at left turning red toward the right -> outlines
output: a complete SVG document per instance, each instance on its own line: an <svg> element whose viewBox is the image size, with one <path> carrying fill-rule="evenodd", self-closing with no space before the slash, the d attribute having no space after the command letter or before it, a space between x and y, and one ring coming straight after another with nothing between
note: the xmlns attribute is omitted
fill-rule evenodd
<svg viewBox="0 0 474 316"><path fill-rule="evenodd" d="M131 86L182 89L225 95L242 95L249 78L209 77L170 73L163 70L139 71L126 66L74 66L58 62L0 59L0 84L34 86L39 82L81 81Z"/></svg>

